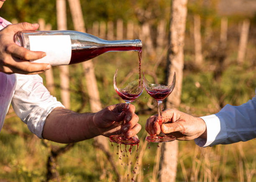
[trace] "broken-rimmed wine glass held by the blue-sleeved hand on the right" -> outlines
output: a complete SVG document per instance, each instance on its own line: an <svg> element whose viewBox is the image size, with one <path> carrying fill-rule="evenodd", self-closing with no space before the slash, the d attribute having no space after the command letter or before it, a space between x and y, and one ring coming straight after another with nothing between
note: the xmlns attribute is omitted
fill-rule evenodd
<svg viewBox="0 0 256 182"><path fill-rule="evenodd" d="M148 80L146 79L146 77L144 77L144 75L143 75L143 80L144 80L145 90L158 103L158 119L157 119L156 122L158 122L160 127L161 127L161 125L162 125L162 104L163 104L163 100L166 97L168 97L174 89L174 86L175 86L175 83L176 83L176 73L174 72L172 85L169 85L169 86L161 85L161 84L152 84L152 83L148 82ZM167 136L163 132L160 132L159 135L146 137L146 140L148 142L157 142L157 143L159 143L159 142L171 142L175 139L176 138L174 136Z"/></svg>

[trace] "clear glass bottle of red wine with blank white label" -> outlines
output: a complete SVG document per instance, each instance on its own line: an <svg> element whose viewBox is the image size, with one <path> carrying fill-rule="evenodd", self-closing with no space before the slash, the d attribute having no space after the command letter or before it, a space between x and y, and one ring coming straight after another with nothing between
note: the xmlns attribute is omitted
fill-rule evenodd
<svg viewBox="0 0 256 182"><path fill-rule="evenodd" d="M19 31L15 43L28 50L46 52L31 62L70 65L110 51L139 51L142 42L135 40L103 40L94 35L72 30Z"/></svg>

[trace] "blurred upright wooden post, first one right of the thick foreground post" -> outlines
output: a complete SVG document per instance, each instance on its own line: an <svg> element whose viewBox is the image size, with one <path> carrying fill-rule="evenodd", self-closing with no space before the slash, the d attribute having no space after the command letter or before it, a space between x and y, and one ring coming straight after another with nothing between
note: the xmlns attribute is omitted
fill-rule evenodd
<svg viewBox="0 0 256 182"><path fill-rule="evenodd" d="M202 65L202 41L201 41L201 22L200 16L194 15L194 46L195 46L195 65Z"/></svg>

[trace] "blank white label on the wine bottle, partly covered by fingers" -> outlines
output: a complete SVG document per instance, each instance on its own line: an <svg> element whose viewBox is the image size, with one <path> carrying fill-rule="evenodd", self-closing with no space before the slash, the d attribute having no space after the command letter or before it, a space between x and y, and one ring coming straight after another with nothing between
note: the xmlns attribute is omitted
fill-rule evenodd
<svg viewBox="0 0 256 182"><path fill-rule="evenodd" d="M70 35L29 35L30 50L46 52L46 56L37 63L55 65L68 65L71 59Z"/></svg>

